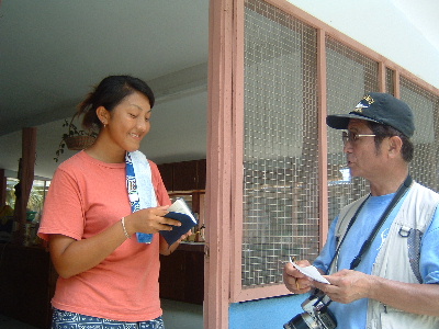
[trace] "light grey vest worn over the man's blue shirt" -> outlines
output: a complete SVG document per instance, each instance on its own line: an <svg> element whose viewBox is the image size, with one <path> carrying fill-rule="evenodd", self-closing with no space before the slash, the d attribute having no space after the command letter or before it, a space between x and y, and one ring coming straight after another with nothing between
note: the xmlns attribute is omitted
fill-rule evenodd
<svg viewBox="0 0 439 329"><path fill-rule="evenodd" d="M381 248L372 269L372 275L390 280L421 283L419 273L420 239L429 227L439 204L439 194L414 182L393 220L387 238ZM367 196L346 206L339 215L336 227L338 241L342 240L350 219ZM337 271L337 260L330 273ZM369 299L368 329L438 329L439 317L405 313L380 302Z"/></svg>

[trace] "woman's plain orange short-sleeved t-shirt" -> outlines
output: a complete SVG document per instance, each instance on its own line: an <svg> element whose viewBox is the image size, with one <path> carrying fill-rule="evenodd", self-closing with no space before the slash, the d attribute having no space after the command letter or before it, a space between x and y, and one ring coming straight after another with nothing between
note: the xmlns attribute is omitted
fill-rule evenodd
<svg viewBox="0 0 439 329"><path fill-rule="evenodd" d="M170 205L157 166L149 161L159 205ZM54 174L38 235L90 238L131 214L125 163L105 163L80 151ZM120 321L161 316L159 236L150 245L135 236L99 265L69 279L59 277L52 305L58 309Z"/></svg>

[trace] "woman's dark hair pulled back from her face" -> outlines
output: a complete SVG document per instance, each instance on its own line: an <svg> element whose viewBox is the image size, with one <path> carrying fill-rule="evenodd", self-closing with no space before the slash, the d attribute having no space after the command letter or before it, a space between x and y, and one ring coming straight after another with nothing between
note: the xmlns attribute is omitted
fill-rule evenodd
<svg viewBox="0 0 439 329"><path fill-rule="evenodd" d="M76 115L83 115L82 126L85 128L93 129L98 127L100 129L102 123L95 110L99 106L104 106L105 110L111 112L124 98L134 92L140 92L146 95L153 109L155 102L154 93L145 81L131 76L109 76L78 105Z"/></svg>

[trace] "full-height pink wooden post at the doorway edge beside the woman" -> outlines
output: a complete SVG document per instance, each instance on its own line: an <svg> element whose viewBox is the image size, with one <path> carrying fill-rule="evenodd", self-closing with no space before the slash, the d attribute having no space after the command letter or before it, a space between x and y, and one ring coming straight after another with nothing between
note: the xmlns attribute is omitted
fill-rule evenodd
<svg viewBox="0 0 439 329"><path fill-rule="evenodd" d="M209 27L209 135L204 328L227 329L230 291L233 47L235 4L211 0Z"/></svg>

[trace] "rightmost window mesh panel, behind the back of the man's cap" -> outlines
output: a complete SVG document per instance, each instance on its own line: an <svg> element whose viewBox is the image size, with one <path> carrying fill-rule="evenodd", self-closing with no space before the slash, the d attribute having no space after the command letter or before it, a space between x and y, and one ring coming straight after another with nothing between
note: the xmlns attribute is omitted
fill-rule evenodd
<svg viewBox="0 0 439 329"><path fill-rule="evenodd" d="M439 98L402 77L401 99L412 107L415 116L412 177L418 183L439 191Z"/></svg>

